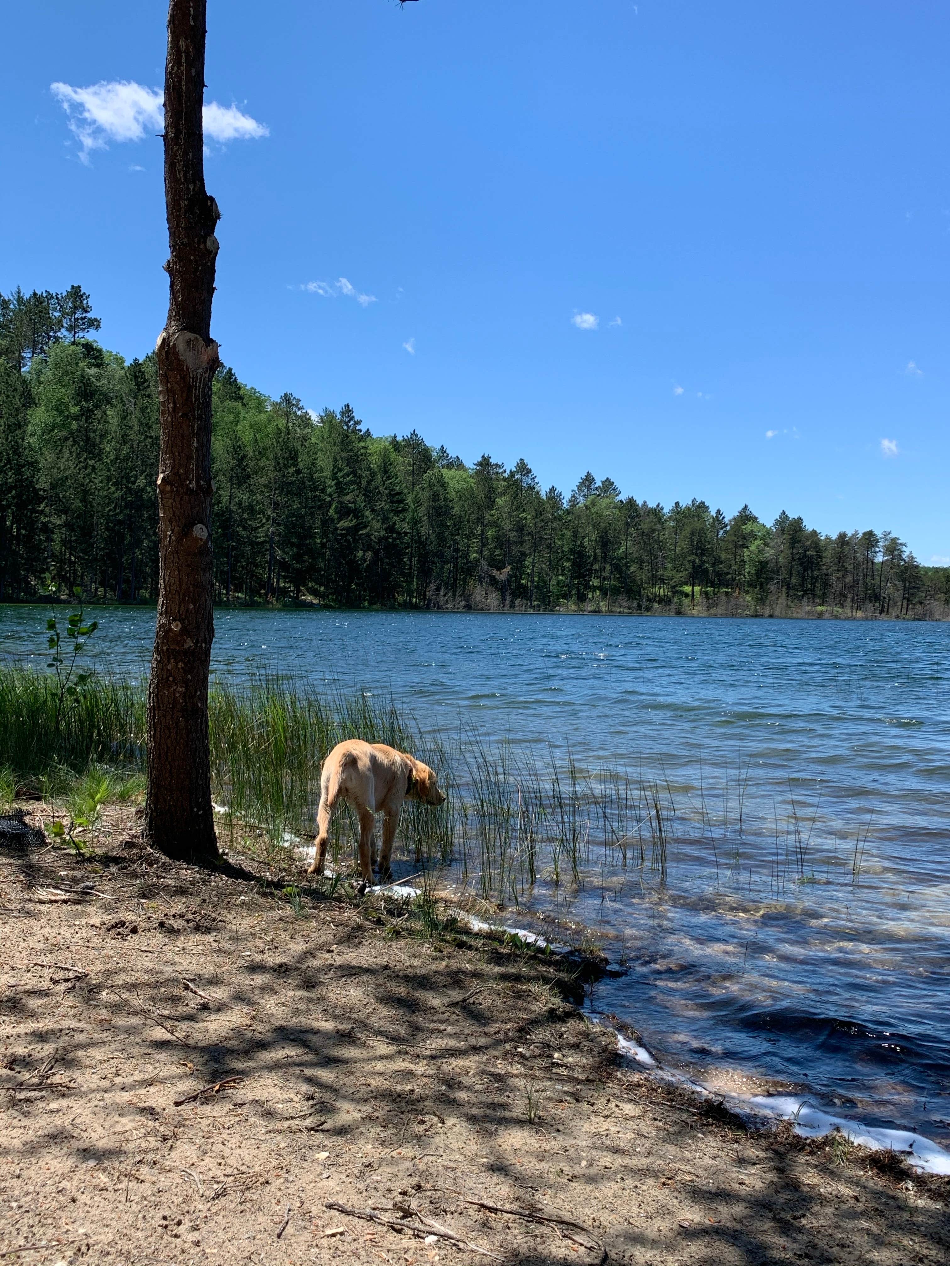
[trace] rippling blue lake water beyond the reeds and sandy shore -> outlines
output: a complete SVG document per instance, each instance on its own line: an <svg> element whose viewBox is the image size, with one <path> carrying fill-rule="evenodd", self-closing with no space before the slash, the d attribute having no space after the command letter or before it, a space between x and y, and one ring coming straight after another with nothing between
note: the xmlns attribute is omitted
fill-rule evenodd
<svg viewBox="0 0 950 1266"><path fill-rule="evenodd" d="M0 608L0 658L42 665L46 614ZM155 613L98 615L99 666L144 672ZM652 780L665 882L604 857L583 889L529 901L626 966L590 1005L712 1084L806 1087L950 1138L950 625L224 610L215 625L231 680L391 695L426 730Z"/></svg>

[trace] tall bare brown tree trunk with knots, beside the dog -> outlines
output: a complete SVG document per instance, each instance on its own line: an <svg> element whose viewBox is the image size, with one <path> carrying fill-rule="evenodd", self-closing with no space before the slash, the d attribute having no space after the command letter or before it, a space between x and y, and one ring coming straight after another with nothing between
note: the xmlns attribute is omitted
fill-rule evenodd
<svg viewBox="0 0 950 1266"><path fill-rule="evenodd" d="M218 205L204 187L206 0L170 0L165 63L168 319L158 337L158 618L148 685L146 833L170 857L218 857L208 748L212 610L212 298Z"/></svg>

